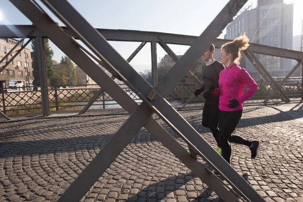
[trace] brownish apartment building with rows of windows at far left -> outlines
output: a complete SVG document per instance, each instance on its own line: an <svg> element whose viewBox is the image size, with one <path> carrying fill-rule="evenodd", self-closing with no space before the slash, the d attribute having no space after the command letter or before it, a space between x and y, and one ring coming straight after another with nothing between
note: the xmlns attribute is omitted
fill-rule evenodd
<svg viewBox="0 0 303 202"><path fill-rule="evenodd" d="M18 40L0 39L0 60L3 59L16 45ZM21 47L23 42L19 44ZM16 47L0 67L5 65L20 47ZM25 90L25 87L33 86L33 69L31 64L30 49L24 48L22 52L0 73L0 87ZM23 88L21 88L23 87ZM28 90L28 89L27 89Z"/></svg>

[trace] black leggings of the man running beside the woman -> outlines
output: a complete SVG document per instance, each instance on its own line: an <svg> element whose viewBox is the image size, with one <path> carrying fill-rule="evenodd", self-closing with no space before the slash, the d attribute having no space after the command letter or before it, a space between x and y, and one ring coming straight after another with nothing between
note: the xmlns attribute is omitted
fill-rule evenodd
<svg viewBox="0 0 303 202"><path fill-rule="evenodd" d="M203 113L202 113L202 125L204 127L210 128L217 141L217 145L221 147L219 142L219 128L218 128L219 115L220 115L219 102L216 102L211 105L209 104L204 105Z"/></svg>

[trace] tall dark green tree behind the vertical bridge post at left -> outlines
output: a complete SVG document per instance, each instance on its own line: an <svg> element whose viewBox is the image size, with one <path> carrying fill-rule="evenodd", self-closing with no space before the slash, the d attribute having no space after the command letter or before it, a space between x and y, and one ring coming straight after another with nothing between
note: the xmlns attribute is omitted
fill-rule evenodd
<svg viewBox="0 0 303 202"><path fill-rule="evenodd" d="M56 72L54 70L53 66L53 56L54 51L48 44L48 39L44 38L44 48L45 48L45 59L46 59L46 74L47 74L47 84L50 84L52 86L58 85L58 76L56 75ZM35 39L32 40L31 44L32 50L34 52L34 60L33 60L33 68L38 70L38 53L37 53L37 47ZM37 79L37 78L35 78ZM40 85L40 83L35 83L35 85Z"/></svg>

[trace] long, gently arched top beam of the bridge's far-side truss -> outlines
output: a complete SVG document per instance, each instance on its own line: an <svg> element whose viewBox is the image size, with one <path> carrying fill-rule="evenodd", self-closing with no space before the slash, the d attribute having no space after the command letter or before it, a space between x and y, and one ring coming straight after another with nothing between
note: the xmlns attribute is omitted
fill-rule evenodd
<svg viewBox="0 0 303 202"><path fill-rule="evenodd" d="M76 38L76 34L69 30L67 27L62 27L62 29L68 35ZM20 32L16 30L21 30ZM23 33L28 33L33 30L28 36L36 37L46 35L41 32L37 27L33 25L0 25L0 38L22 38ZM177 45L191 45L197 36L181 35L181 34L170 34L162 32L148 32L148 31L138 31L138 30L115 30L115 29L96 29L109 41L133 41L133 42L160 42L158 36L162 38L165 43L177 44ZM230 40L226 39L216 39L213 41L217 48L221 48L222 44ZM293 60L303 60L303 53L299 51L293 51L291 49L272 47L267 45L261 45L257 43L250 43L250 49L256 54L263 54L269 56L276 56L281 58L288 58Z"/></svg>

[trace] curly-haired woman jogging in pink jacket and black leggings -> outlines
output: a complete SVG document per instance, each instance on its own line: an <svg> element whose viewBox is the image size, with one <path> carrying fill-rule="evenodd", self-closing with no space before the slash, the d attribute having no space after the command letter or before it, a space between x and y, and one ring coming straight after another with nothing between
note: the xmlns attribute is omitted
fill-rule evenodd
<svg viewBox="0 0 303 202"><path fill-rule="evenodd" d="M240 51L248 47L247 36L241 35L221 47L220 60L227 68L222 70L219 75L219 88L212 86L210 92L220 95L219 97L219 142L222 149L223 158L230 163L231 147L229 142L243 144L251 150L251 158L258 156L261 145L260 140L249 141L238 135L232 135L239 123L243 105L257 91L258 84L250 77L245 69L237 64L240 61ZM244 86L248 89L243 93ZM214 89L214 90L213 90Z"/></svg>

